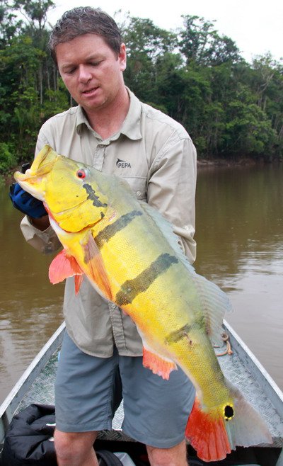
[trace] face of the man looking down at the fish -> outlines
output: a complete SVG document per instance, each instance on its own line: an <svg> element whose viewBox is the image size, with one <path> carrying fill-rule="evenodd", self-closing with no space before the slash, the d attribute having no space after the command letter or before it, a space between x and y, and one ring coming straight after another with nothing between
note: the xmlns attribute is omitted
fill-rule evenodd
<svg viewBox="0 0 283 466"><path fill-rule="evenodd" d="M115 101L124 87L124 44L117 56L100 35L85 34L58 44L55 52L65 86L86 113Z"/></svg>

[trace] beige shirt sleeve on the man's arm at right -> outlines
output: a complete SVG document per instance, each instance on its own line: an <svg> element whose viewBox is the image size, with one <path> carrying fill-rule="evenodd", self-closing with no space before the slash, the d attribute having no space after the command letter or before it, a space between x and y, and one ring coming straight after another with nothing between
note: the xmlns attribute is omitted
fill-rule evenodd
<svg viewBox="0 0 283 466"><path fill-rule="evenodd" d="M174 135L157 154L148 181L148 203L174 227L190 262L195 261L197 152L190 137Z"/></svg>

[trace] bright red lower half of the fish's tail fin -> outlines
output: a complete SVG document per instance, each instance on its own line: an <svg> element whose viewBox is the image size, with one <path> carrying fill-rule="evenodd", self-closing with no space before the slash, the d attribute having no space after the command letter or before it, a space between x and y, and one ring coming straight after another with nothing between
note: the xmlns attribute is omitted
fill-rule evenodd
<svg viewBox="0 0 283 466"><path fill-rule="evenodd" d="M185 437L200 460L220 461L231 453L223 416L216 409L203 411L197 397L187 421Z"/></svg>

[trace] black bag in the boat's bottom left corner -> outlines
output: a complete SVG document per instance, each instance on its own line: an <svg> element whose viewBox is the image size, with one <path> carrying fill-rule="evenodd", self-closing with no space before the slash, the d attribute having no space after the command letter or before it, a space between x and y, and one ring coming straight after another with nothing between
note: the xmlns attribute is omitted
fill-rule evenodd
<svg viewBox="0 0 283 466"><path fill-rule="evenodd" d="M57 466L54 406L31 404L13 417L4 441L2 466ZM51 425L50 425L51 424Z"/></svg>

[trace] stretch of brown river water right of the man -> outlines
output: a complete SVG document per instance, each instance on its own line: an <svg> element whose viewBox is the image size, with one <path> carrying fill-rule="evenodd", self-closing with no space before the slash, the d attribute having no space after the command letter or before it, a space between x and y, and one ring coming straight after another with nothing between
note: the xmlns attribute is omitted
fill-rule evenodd
<svg viewBox="0 0 283 466"><path fill-rule="evenodd" d="M283 166L202 170L199 273L228 292L226 316L283 389Z"/></svg>

